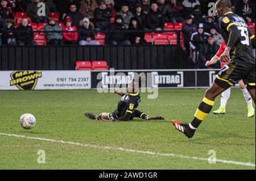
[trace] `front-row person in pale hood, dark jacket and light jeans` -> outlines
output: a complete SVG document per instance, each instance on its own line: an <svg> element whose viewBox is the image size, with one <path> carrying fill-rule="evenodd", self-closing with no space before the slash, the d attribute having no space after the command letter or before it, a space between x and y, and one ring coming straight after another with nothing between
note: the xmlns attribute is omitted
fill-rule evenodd
<svg viewBox="0 0 256 181"><path fill-rule="evenodd" d="M100 42L95 41L93 28L90 25L90 20L84 18L82 20L82 26L79 28L79 44L80 45L100 45Z"/></svg>

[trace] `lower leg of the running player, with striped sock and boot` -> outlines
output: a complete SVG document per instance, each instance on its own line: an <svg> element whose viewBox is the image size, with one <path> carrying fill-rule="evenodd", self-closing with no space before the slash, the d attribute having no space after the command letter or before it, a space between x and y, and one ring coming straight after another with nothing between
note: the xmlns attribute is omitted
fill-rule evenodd
<svg viewBox="0 0 256 181"><path fill-rule="evenodd" d="M226 87L228 89L229 87ZM205 97L203 99L203 102L200 103L199 107L196 110L196 113L194 115L194 119L189 124L183 124L180 123L177 120L173 120L172 123L174 124L174 127L185 134L188 138L192 138L193 135L196 132L196 129L199 127L199 125L202 123L202 121L209 115L210 111L212 110L212 107L214 105L215 98L221 94L225 89L218 86L215 82L210 86L210 88L205 92Z"/></svg>

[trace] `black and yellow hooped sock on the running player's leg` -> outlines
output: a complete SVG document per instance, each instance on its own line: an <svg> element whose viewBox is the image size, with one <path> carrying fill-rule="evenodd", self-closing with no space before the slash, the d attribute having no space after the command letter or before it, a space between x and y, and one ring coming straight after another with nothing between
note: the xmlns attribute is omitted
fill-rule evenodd
<svg viewBox="0 0 256 181"><path fill-rule="evenodd" d="M214 101L210 100L208 98L204 98L203 102L200 103L199 107L196 110L195 118L193 121L189 124L189 127L191 129L196 129L199 127L201 122L207 117L212 110L212 107L214 105Z"/></svg>

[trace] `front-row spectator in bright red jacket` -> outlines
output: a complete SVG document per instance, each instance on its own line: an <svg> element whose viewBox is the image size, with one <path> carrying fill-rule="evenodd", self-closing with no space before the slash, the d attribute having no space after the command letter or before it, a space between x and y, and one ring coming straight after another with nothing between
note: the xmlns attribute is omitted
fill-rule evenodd
<svg viewBox="0 0 256 181"><path fill-rule="evenodd" d="M72 24L72 19L67 16L65 19L65 26L62 28L63 40L66 45L76 45L78 40L77 27ZM68 32L67 32L68 31Z"/></svg>

